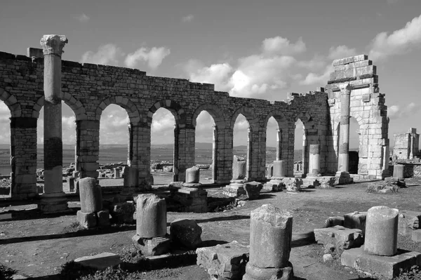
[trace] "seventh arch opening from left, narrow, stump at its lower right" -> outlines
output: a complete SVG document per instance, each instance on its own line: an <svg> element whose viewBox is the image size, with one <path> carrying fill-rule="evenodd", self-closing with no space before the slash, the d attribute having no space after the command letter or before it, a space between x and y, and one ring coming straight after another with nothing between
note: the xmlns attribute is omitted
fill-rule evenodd
<svg viewBox="0 0 421 280"><path fill-rule="evenodd" d="M269 118L266 126L266 177L272 177L272 168L274 161L278 158L278 122L273 116Z"/></svg>

